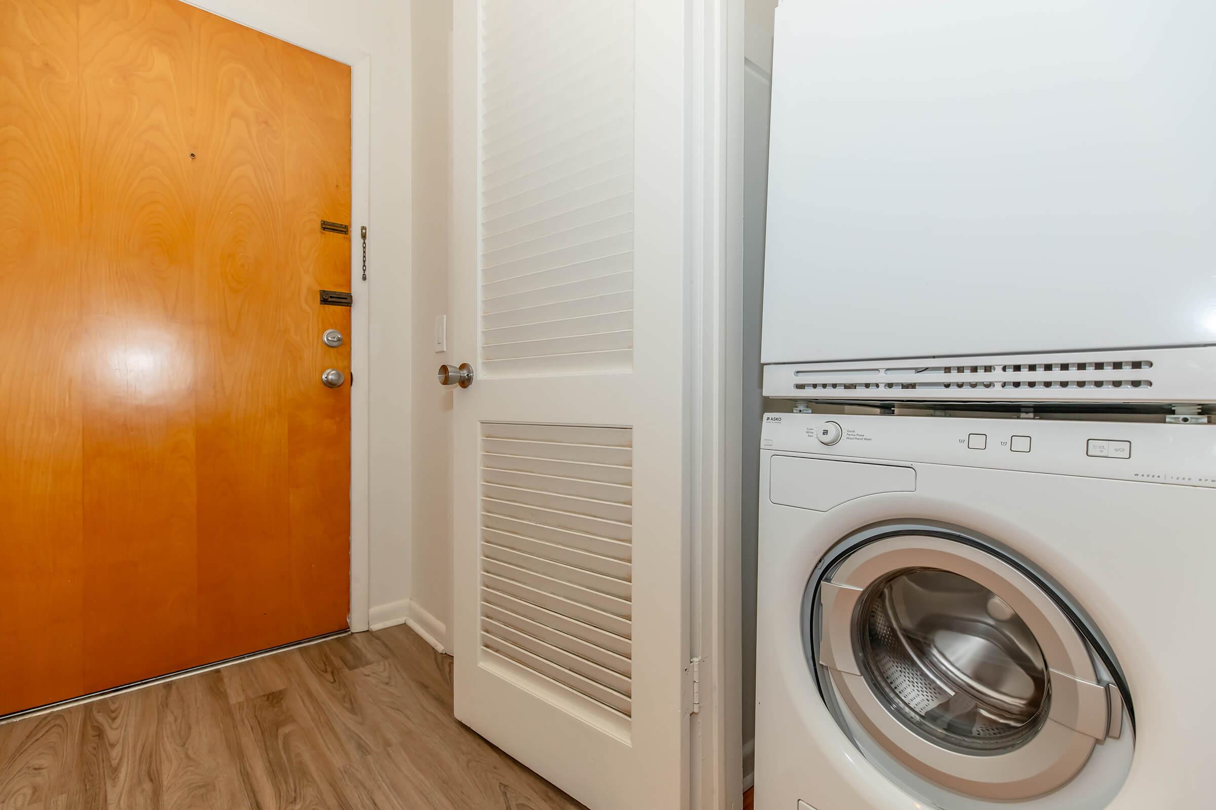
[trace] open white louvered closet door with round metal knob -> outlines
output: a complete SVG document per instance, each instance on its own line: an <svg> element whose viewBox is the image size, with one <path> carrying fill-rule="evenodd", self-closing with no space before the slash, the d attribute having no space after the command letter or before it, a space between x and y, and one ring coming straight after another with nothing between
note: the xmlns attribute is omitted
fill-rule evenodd
<svg viewBox="0 0 1216 810"><path fill-rule="evenodd" d="M685 4L456 0L456 715L688 799Z"/></svg>

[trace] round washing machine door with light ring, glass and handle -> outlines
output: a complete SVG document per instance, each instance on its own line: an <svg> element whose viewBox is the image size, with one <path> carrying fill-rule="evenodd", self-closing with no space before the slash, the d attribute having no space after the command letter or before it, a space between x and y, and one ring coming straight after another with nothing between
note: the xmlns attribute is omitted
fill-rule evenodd
<svg viewBox="0 0 1216 810"><path fill-rule="evenodd" d="M855 548L818 584L817 661L890 755L958 793L1018 800L1070 781L1124 704L1030 577L936 536Z"/></svg>

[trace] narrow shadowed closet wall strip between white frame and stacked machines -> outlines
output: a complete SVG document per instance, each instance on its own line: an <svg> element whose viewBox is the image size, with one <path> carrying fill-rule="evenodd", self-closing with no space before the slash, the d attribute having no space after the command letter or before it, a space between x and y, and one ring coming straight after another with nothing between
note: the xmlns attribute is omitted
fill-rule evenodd
<svg viewBox="0 0 1216 810"><path fill-rule="evenodd" d="M777 0L747 0L743 38L743 774L750 784L755 738L756 529L761 395L760 315L769 189L769 98L772 92L772 12Z"/></svg>

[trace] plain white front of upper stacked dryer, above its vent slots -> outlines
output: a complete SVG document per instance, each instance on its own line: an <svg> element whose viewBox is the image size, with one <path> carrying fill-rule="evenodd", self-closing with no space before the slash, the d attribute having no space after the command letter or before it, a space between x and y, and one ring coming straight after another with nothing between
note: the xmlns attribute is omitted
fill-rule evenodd
<svg viewBox="0 0 1216 810"><path fill-rule="evenodd" d="M1211 0L782 0L762 362L1216 344L1214 39Z"/></svg>

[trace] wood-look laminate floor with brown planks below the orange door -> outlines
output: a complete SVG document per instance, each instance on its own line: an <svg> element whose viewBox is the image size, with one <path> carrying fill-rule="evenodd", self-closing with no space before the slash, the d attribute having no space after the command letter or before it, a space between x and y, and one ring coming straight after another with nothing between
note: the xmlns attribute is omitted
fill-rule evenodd
<svg viewBox="0 0 1216 810"><path fill-rule="evenodd" d="M0 810L582 810L401 625L0 725Z"/></svg>

